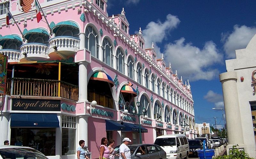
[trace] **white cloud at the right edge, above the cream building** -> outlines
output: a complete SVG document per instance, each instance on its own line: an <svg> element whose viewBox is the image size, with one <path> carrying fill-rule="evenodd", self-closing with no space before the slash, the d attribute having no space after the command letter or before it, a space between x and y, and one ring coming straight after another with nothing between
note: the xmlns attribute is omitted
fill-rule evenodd
<svg viewBox="0 0 256 159"><path fill-rule="evenodd" d="M244 49L256 34L256 27L235 25L231 33L222 33L221 42L227 59L236 58L235 50Z"/></svg>

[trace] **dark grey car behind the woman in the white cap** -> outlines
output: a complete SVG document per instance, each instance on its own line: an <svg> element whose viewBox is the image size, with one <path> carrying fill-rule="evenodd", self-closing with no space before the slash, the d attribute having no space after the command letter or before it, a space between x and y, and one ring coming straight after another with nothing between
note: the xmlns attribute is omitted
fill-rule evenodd
<svg viewBox="0 0 256 159"><path fill-rule="evenodd" d="M128 145L131 150L131 159L167 159L165 151L154 144L132 144ZM119 154L119 146L115 148Z"/></svg>

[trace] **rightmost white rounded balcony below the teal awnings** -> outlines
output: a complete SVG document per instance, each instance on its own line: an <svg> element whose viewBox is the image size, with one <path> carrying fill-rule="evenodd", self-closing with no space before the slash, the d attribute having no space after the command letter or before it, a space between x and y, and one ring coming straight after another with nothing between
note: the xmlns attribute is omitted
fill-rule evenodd
<svg viewBox="0 0 256 159"><path fill-rule="evenodd" d="M49 41L49 56L51 58L66 58L74 55L79 49L80 39L73 36L57 36Z"/></svg>

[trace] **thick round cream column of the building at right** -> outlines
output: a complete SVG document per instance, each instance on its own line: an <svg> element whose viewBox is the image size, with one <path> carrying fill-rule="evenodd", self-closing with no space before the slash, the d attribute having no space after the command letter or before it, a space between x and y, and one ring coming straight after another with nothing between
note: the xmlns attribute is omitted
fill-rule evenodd
<svg viewBox="0 0 256 159"><path fill-rule="evenodd" d="M231 145L244 144L236 81L236 72L220 74L227 121L228 142Z"/></svg>

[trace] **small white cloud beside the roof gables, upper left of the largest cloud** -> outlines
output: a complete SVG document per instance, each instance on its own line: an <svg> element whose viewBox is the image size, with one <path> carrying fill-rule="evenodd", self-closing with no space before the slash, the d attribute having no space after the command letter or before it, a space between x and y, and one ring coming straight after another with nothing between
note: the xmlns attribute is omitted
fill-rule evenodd
<svg viewBox="0 0 256 159"><path fill-rule="evenodd" d="M146 41L145 47L151 48L152 42L154 42L154 46L157 48L157 43L161 43L163 39L169 35L169 32L176 28L179 23L180 19L171 14L166 16L164 22L161 22L160 20L157 22L149 22L146 29L142 30L143 37Z"/></svg>

